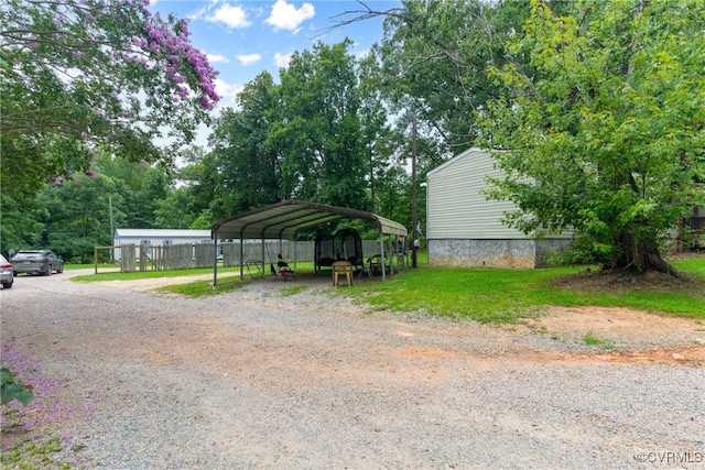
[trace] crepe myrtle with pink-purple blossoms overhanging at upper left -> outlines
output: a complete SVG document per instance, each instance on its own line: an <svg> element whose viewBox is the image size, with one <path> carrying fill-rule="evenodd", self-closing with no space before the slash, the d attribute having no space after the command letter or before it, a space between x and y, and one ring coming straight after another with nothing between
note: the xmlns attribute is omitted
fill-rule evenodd
<svg viewBox="0 0 705 470"><path fill-rule="evenodd" d="M133 0L6 0L0 8L2 188L31 195L91 172L100 147L169 163L218 100L188 24ZM155 142L167 142L162 149Z"/></svg>

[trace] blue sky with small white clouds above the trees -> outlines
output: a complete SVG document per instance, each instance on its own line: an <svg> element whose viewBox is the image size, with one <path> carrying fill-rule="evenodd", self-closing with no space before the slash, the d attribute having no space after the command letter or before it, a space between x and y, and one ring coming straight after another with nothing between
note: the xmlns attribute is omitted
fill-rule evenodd
<svg viewBox="0 0 705 470"><path fill-rule="evenodd" d="M373 10L400 7L400 1L367 1ZM165 18L189 20L193 46L208 55L210 65L219 72L216 91L221 96L218 107L234 106L234 98L242 86L263 70L275 80L286 67L294 51L312 50L321 41L339 43L354 41L354 54L365 54L382 40L382 19L346 25L332 32L334 17L361 10L356 1L297 0L152 0L150 10Z"/></svg>

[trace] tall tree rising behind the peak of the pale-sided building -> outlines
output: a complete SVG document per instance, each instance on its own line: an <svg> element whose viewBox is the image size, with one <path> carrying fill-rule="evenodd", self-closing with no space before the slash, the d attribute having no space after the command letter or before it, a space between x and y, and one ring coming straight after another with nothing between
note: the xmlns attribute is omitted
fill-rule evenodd
<svg viewBox="0 0 705 470"><path fill-rule="evenodd" d="M380 46L393 110L413 111L443 159L476 144L475 112L502 92L486 73L527 15L521 1L405 0L387 15ZM431 155L430 155L431 156Z"/></svg>

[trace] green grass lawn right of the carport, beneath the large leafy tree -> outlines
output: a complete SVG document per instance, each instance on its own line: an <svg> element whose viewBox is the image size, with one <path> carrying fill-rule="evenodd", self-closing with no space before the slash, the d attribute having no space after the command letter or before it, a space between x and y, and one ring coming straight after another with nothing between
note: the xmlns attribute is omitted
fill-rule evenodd
<svg viewBox="0 0 705 470"><path fill-rule="evenodd" d="M673 263L705 280L705 259ZM630 307L693 318L705 318L705 284L695 288L662 285L582 289L562 287L556 281L586 267L544 270L429 267L408 270L388 283L366 289L360 302L375 309L424 311L429 315L469 318L482 323L512 323L533 316L547 305Z"/></svg>

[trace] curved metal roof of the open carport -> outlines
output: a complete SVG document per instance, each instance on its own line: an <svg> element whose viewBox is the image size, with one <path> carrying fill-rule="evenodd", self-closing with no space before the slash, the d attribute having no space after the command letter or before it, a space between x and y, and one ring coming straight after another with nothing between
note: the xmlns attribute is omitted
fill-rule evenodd
<svg viewBox="0 0 705 470"><path fill-rule="evenodd" d="M213 226L212 236L218 239L295 240L300 230L340 219L371 220L380 234L406 236L406 227L372 212L297 199L282 200L223 219Z"/></svg>

